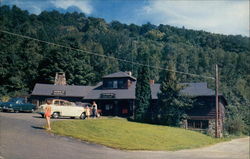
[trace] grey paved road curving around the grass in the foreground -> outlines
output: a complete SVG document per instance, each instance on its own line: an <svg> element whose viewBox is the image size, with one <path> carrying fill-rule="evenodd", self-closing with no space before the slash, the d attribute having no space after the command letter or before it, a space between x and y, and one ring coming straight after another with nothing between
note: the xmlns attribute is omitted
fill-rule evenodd
<svg viewBox="0 0 250 159"><path fill-rule="evenodd" d="M249 159L249 138L175 152L121 151L46 132L37 114L0 113L0 159Z"/></svg>

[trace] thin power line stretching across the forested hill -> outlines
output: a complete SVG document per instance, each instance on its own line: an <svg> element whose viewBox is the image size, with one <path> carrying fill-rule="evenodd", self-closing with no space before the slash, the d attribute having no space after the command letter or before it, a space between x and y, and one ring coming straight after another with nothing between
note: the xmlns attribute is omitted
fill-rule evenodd
<svg viewBox="0 0 250 159"><path fill-rule="evenodd" d="M112 56L100 55L98 53L94 53L94 52L90 52L90 51L86 51L86 50L81 50L81 49L77 49L77 48L73 48L73 47L68 47L68 46L64 46L64 45L61 45L61 44L56 44L56 43L52 43L52 42L32 38L32 37L29 37L29 36L26 36L26 35L20 35L20 34L12 33L12 32L5 31L5 30L0 30L0 32L5 33L5 34L9 34L9 35L22 37L22 38L25 38L25 39L38 41L38 42L41 42L41 43L46 43L46 44L49 44L49 45L54 45L54 46L57 46L57 47L62 47L62 48L69 49L69 50L84 52L84 53L87 53L87 54L90 54L90 55L95 55L95 56L105 57L105 58L109 58L109 59L113 59L113 60L117 60L117 61L121 61L121 62L131 63L132 65L134 64L134 65L139 65L139 66L145 66L145 67L148 67L148 68L160 69L160 70L175 72L175 73L194 76L194 77L203 77L203 78L208 78L208 79L213 79L213 80L215 79L214 77L210 77L210 76L204 76L204 75L198 75L198 74L193 74L193 73L175 71L175 70L170 70L170 69L166 69L166 68L162 68L162 67L151 66L149 64L145 65L145 64L142 64L142 63L138 63L138 62L128 61L128 60L124 60L124 59L120 59L120 58L116 58L116 57L112 57Z"/></svg>

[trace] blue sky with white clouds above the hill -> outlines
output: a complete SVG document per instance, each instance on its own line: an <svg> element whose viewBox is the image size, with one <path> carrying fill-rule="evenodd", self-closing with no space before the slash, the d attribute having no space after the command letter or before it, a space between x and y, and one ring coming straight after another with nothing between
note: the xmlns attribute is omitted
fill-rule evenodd
<svg viewBox="0 0 250 159"><path fill-rule="evenodd" d="M34 14L77 11L107 22L150 22L249 36L249 0L2 0L1 5L17 5Z"/></svg>

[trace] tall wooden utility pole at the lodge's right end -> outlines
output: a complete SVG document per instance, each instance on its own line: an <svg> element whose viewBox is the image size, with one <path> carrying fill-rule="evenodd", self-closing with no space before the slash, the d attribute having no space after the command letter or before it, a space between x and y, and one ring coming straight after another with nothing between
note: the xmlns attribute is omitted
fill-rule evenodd
<svg viewBox="0 0 250 159"><path fill-rule="evenodd" d="M219 74L218 74L218 65L215 65L215 105L216 105L216 113L215 113L215 137L220 137L219 131Z"/></svg>

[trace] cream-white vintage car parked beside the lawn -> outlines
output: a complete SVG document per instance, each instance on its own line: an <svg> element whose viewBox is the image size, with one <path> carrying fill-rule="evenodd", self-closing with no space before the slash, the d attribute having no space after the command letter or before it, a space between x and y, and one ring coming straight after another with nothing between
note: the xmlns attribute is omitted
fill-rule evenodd
<svg viewBox="0 0 250 159"><path fill-rule="evenodd" d="M53 118L71 117L71 118L86 118L86 109L82 106L77 106L75 103L62 99L49 99L52 101L51 113ZM44 111L47 104L40 105L37 113L44 117Z"/></svg>

